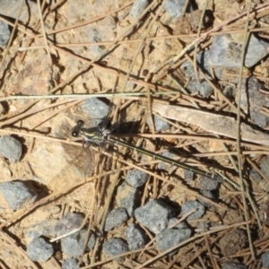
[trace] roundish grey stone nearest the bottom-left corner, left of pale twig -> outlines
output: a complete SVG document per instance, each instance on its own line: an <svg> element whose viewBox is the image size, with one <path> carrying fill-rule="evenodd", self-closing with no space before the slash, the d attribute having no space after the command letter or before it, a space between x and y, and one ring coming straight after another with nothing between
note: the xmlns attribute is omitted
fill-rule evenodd
<svg viewBox="0 0 269 269"><path fill-rule="evenodd" d="M44 239L32 239L27 247L27 255L34 262L46 262L53 255L53 247Z"/></svg>

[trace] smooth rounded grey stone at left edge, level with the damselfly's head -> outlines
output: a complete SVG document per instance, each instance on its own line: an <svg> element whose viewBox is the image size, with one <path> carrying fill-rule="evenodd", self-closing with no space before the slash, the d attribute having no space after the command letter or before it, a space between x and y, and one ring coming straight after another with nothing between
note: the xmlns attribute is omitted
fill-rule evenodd
<svg viewBox="0 0 269 269"><path fill-rule="evenodd" d="M0 138L0 153L11 162L22 158L22 143L9 135Z"/></svg>

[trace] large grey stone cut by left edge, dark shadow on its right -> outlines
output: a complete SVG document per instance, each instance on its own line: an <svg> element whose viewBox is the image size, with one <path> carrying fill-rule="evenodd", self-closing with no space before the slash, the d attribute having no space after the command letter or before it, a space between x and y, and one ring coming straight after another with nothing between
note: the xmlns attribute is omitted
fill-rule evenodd
<svg viewBox="0 0 269 269"><path fill-rule="evenodd" d="M33 203L37 197L35 189L30 184L17 180L1 183L0 192L13 210L22 208L30 201Z"/></svg>

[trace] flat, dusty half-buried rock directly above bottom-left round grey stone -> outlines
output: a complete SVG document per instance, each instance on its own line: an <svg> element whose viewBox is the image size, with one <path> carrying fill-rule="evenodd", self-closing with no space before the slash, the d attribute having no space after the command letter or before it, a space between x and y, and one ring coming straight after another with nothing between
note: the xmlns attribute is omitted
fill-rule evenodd
<svg viewBox="0 0 269 269"><path fill-rule="evenodd" d="M54 227L58 220L49 219L47 221L40 221L30 226L30 229L25 233L26 238L39 238L40 236L47 236L53 238L56 236Z"/></svg>

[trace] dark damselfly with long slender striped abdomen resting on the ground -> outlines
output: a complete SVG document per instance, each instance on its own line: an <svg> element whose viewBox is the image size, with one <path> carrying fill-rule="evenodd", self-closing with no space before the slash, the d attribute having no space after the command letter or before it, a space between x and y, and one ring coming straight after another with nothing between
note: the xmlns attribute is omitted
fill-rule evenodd
<svg viewBox="0 0 269 269"><path fill-rule="evenodd" d="M204 171L202 169L197 169L195 167L187 165L184 162L170 159L170 158L162 156L162 155L160 155L158 153L150 152L150 151L145 150L145 149L143 149L141 147L137 147L137 146L134 146L134 145L132 145L130 143L126 143L126 142L124 142L122 140L119 140L119 139L117 139L116 137L114 137L111 134L111 131L107 128L107 126L101 126L100 125L100 126L95 126L95 127L91 127L91 128L84 128L83 126L84 126L84 122L82 120L79 120L77 122L77 125L74 126L74 128L73 128L72 135L74 137L78 137L79 135L81 135L83 141L86 142L86 143L113 143L113 144L118 144L118 145L127 147L127 148L129 148L131 150L134 150L136 152L140 152L140 153L143 153L145 155L148 155L148 156L152 157L155 160L167 162L170 165L178 166L178 167L180 167L182 169L190 170L190 171L192 171L192 172L194 172L196 174L205 176L207 178L213 178L215 180L221 180L221 177L216 175L216 174L206 172L206 171Z"/></svg>

